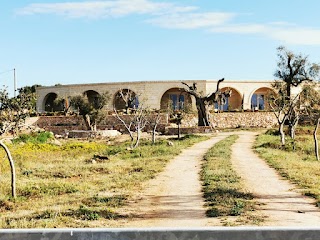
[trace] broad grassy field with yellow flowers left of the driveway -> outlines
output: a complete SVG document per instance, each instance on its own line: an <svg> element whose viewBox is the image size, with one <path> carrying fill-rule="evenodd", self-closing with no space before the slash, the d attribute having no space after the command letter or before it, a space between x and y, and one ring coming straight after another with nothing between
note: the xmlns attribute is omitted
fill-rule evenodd
<svg viewBox="0 0 320 240"><path fill-rule="evenodd" d="M37 139L39 138L39 139ZM182 149L207 137L128 143L45 142L46 136L22 137L9 144L17 171L17 199L11 199L9 164L0 157L0 228L110 227L125 218L120 209L143 182L162 171ZM108 160L92 162L94 155Z"/></svg>

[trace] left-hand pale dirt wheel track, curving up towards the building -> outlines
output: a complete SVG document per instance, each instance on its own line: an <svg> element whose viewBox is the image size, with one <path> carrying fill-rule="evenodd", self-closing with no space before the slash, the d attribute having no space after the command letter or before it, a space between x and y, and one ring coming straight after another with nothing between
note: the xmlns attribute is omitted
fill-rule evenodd
<svg viewBox="0 0 320 240"><path fill-rule="evenodd" d="M219 224L205 216L199 172L203 155L226 135L213 137L185 149L175 157L132 204L137 215L126 227L188 227ZM215 221L215 223L213 223ZM210 225L211 225L210 224Z"/></svg>

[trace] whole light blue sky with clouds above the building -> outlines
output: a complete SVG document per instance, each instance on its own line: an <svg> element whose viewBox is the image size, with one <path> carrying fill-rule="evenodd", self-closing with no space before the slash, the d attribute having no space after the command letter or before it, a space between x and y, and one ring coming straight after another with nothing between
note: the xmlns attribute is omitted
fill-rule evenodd
<svg viewBox="0 0 320 240"><path fill-rule="evenodd" d="M320 63L318 0L0 0L0 85L273 80Z"/></svg>

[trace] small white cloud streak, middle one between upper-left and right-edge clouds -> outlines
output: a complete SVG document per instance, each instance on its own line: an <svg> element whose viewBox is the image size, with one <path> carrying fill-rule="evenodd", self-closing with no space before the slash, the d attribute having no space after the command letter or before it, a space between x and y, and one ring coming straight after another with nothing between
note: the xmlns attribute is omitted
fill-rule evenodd
<svg viewBox="0 0 320 240"><path fill-rule="evenodd" d="M148 20L149 23L175 29L196 29L219 26L234 17L232 13L208 12L208 13L180 13L162 15Z"/></svg>

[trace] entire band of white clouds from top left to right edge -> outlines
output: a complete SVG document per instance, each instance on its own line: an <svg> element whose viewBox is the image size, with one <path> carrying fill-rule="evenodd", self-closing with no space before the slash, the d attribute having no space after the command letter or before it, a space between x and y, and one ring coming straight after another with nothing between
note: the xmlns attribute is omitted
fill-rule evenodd
<svg viewBox="0 0 320 240"><path fill-rule="evenodd" d="M201 12L195 6L152 0L105 0L64 3L33 3L17 14L57 14L71 18L146 15L146 22L170 29L206 29L213 33L259 34L284 44L320 45L320 29L298 27L288 22L236 23L238 14Z"/></svg>

